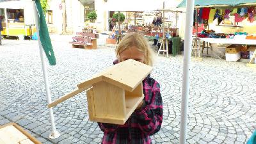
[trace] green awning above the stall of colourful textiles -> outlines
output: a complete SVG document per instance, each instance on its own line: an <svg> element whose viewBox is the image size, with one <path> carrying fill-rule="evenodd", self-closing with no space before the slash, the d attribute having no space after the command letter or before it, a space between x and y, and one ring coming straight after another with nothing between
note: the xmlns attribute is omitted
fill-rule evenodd
<svg viewBox="0 0 256 144"><path fill-rule="evenodd" d="M195 7L214 7L214 6L242 6L242 5L256 5L255 0L195 0ZM186 0L183 0L178 8L186 7Z"/></svg>

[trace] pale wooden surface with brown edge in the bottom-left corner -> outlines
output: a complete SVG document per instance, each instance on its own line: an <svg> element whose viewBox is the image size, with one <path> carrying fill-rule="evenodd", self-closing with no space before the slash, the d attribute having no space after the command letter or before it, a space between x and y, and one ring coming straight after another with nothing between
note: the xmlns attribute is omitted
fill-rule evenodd
<svg viewBox="0 0 256 144"><path fill-rule="evenodd" d="M15 123L0 125L1 144L42 144L27 131Z"/></svg>

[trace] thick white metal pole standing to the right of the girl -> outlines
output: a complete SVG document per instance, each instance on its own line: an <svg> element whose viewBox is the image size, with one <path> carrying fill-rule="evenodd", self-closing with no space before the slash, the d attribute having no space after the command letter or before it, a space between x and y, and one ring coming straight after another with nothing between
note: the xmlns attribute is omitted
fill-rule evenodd
<svg viewBox="0 0 256 144"><path fill-rule="evenodd" d="M187 122L188 122L188 98L189 98L189 63L192 45L192 26L193 26L193 10L195 0L187 0L186 8L186 28L184 42L184 58L183 58L183 76L182 76L182 102L180 115L180 144L186 143Z"/></svg>

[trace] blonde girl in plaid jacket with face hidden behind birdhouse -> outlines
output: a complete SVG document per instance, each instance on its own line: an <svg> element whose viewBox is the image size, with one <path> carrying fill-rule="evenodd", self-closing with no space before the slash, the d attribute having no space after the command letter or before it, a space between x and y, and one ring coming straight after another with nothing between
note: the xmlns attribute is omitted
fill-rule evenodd
<svg viewBox="0 0 256 144"><path fill-rule="evenodd" d="M133 59L152 66L152 50L147 40L138 33L129 33L116 47L116 63ZM104 132L103 144L149 144L150 136L161 128L163 120L163 102L160 86L148 75L143 80L144 99L124 125L98 123Z"/></svg>

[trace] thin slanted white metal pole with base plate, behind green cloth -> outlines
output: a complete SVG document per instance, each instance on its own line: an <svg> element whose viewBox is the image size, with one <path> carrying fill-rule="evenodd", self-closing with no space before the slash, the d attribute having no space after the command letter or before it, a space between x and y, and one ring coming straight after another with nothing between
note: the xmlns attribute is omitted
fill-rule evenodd
<svg viewBox="0 0 256 144"><path fill-rule="evenodd" d="M37 33L37 36L38 36L38 46L39 46L40 58L41 58L42 69L43 69L43 74L44 74L44 83L45 83L46 96L47 96L48 104L50 104L52 102L52 100L51 100L49 81L48 81L48 77L47 77L47 70L45 69L44 56L43 56L43 51L42 51L42 44L40 42L40 37L39 37L38 11L36 9L35 1L33 1L33 3L34 3L33 5L34 5L34 10L35 10L36 33ZM60 136L60 133L58 131L56 131L52 108L49 108L49 115L50 115L51 127L52 127L52 132L51 132L49 138L55 139L55 138L58 138Z"/></svg>

